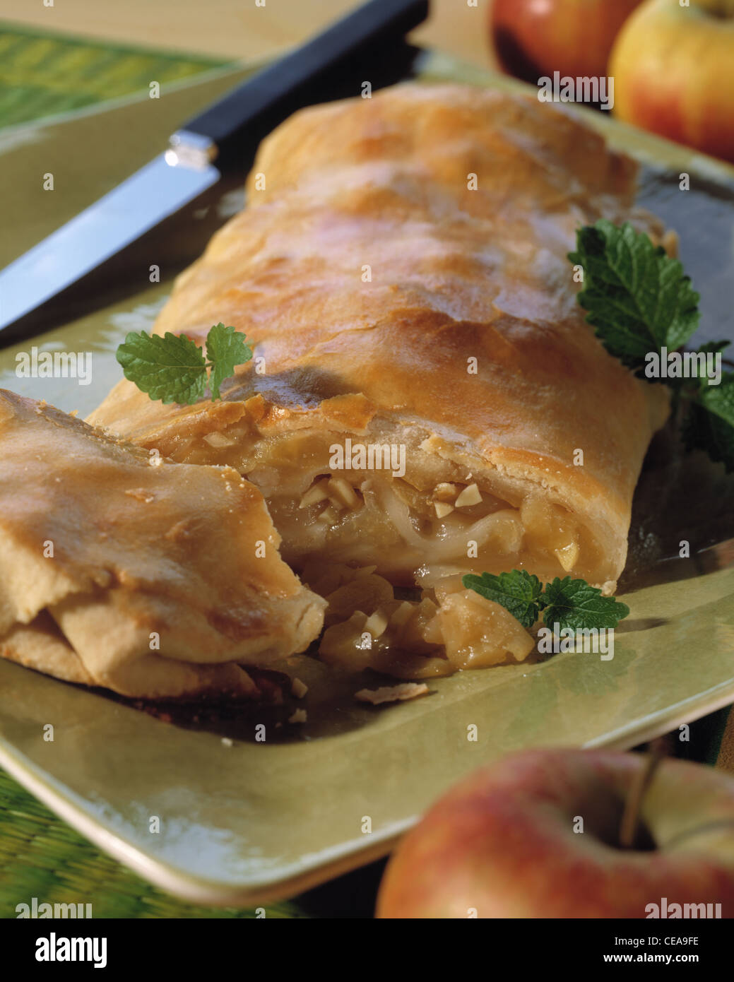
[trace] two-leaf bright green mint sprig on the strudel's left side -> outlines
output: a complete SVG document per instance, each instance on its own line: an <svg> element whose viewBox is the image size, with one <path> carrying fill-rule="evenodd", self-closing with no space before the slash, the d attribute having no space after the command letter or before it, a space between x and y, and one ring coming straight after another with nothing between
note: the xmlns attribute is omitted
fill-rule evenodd
<svg viewBox="0 0 734 982"><path fill-rule="evenodd" d="M206 336L206 357L185 334L168 331L163 337L131 331L116 356L125 377L151 399L191 406L203 397L207 383L212 400L221 399L222 382L252 358L253 350L244 334L219 323Z"/></svg>

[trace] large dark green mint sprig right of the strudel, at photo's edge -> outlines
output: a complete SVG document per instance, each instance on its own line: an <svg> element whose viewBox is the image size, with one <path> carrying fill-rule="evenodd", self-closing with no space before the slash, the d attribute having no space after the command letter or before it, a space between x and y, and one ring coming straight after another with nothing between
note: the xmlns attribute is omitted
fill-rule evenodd
<svg viewBox="0 0 734 982"><path fill-rule="evenodd" d="M662 357L681 348L699 326L700 297L677 259L653 246L629 223L602 218L579 229L571 262L584 268L578 300L587 322L610 355L643 375L646 355ZM726 341L709 342L701 354L720 353ZM673 407L687 404L682 435L687 450L705 450L713 461L734 471L734 375L722 373L718 385L698 373L693 378L664 378L674 393Z"/></svg>

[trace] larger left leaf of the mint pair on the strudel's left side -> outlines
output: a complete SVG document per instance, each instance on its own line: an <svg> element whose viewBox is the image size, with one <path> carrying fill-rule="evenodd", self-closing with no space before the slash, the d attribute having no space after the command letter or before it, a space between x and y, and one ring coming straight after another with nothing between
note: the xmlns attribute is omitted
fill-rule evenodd
<svg viewBox="0 0 734 982"><path fill-rule="evenodd" d="M117 349L125 377L151 399L163 403L196 403L206 388L201 349L185 335L164 337L131 331Z"/></svg>

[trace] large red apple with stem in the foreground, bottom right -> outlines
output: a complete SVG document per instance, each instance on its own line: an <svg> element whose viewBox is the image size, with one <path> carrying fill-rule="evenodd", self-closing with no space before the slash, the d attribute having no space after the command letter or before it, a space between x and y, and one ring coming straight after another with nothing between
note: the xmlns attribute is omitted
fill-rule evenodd
<svg viewBox="0 0 734 982"><path fill-rule="evenodd" d="M378 917L634 917L651 904L734 916L734 781L664 760L636 848L618 835L634 753L530 750L470 775L400 843ZM583 820L583 831L580 828ZM665 900L663 900L665 899Z"/></svg>

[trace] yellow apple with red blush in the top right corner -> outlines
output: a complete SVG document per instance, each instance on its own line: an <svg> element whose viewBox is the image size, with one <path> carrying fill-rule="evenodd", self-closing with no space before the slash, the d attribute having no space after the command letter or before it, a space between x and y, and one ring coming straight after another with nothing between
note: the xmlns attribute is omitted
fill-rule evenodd
<svg viewBox="0 0 734 982"><path fill-rule="evenodd" d="M609 74L618 119L734 162L734 0L648 0Z"/></svg>

